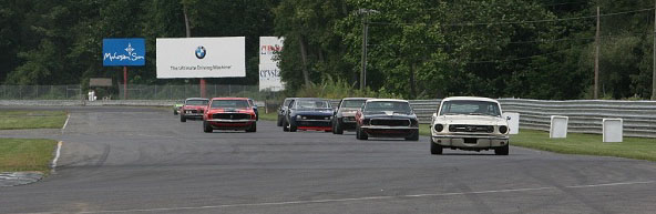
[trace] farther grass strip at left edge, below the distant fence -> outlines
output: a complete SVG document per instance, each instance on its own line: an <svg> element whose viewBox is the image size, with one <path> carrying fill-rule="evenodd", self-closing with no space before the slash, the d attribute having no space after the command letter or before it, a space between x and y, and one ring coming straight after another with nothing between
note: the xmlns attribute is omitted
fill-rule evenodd
<svg viewBox="0 0 656 214"><path fill-rule="evenodd" d="M3 111L0 130L61 129L66 121L63 111Z"/></svg>

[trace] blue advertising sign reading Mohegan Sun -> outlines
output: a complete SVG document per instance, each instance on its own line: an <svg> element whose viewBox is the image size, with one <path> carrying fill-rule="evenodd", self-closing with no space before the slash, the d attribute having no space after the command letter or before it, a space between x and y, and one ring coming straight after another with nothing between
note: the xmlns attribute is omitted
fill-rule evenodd
<svg viewBox="0 0 656 214"><path fill-rule="evenodd" d="M103 39L103 67L143 67L146 43L143 38Z"/></svg>

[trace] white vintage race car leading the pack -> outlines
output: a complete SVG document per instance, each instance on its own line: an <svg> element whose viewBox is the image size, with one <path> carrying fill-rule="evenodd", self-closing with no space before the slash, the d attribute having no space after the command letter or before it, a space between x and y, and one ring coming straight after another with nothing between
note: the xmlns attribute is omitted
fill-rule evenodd
<svg viewBox="0 0 656 214"><path fill-rule="evenodd" d="M442 154L443 149L459 149L494 150L494 154L508 155L509 131L498 101L474 96L447 98L432 116L431 154Z"/></svg>

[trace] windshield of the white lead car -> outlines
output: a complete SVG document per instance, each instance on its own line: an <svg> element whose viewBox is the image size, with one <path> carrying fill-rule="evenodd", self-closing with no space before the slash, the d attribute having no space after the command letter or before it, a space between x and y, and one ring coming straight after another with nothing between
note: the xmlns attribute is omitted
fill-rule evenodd
<svg viewBox="0 0 656 214"><path fill-rule="evenodd" d="M491 115L501 116L499 104L488 101L445 101L442 103L440 115Z"/></svg>

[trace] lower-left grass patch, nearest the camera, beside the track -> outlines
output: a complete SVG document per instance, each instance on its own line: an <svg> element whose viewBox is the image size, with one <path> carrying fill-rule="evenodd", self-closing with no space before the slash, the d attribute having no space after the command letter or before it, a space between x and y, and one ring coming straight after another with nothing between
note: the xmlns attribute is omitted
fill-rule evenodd
<svg viewBox="0 0 656 214"><path fill-rule="evenodd" d="M0 139L0 172L48 173L55 145L54 140Z"/></svg>

